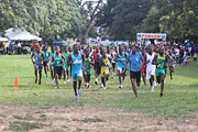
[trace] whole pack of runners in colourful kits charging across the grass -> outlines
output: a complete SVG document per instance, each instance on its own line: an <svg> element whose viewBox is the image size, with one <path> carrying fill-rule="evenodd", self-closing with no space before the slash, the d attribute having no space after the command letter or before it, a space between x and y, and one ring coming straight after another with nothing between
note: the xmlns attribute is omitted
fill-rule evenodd
<svg viewBox="0 0 198 132"><path fill-rule="evenodd" d="M103 46L88 46L84 48L84 46L75 44L73 47L52 47L51 52L47 51L47 47L44 47L42 52L37 46L36 52L32 53L31 59L35 69L35 82L38 80L38 85L42 82L43 67L46 77L47 70L51 70L51 84L56 81L57 89L59 89L58 79L62 79L62 75L64 85L73 78L75 100L78 100L78 96L81 96L82 77L86 82L85 87L91 87L92 69L95 70L95 84L99 84L98 78L101 76L100 87L105 90L109 85L109 76L113 78L116 70L118 70L119 76L119 88L123 88L127 70L130 70L132 88L136 99L139 99L136 87L140 86L141 76L144 86L146 86L145 79L150 80L151 91L154 91L156 82L161 84L161 97L163 96L167 67L169 67L170 79L173 79L176 62L174 53L170 47L167 50L164 46L158 46L154 52L154 45L146 47L131 45L130 47L124 46L124 48L122 46L107 46L107 48ZM116 67L118 68L116 69Z"/></svg>

